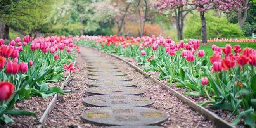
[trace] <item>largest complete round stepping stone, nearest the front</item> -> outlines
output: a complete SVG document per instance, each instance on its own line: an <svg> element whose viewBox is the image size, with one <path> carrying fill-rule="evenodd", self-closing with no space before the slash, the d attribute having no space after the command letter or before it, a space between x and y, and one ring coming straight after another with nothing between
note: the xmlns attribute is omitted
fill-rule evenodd
<svg viewBox="0 0 256 128"><path fill-rule="evenodd" d="M102 107L82 113L85 123L95 125L155 125L168 119L168 115L145 107Z"/></svg>

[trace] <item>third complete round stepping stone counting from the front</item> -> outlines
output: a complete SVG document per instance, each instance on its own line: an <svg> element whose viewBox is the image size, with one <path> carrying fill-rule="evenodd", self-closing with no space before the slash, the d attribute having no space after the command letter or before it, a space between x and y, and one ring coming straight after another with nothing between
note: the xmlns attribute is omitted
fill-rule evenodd
<svg viewBox="0 0 256 128"><path fill-rule="evenodd" d="M100 95L100 94L118 94L118 95L139 95L146 91L140 88L123 87L123 86L100 86L87 88L86 94Z"/></svg>

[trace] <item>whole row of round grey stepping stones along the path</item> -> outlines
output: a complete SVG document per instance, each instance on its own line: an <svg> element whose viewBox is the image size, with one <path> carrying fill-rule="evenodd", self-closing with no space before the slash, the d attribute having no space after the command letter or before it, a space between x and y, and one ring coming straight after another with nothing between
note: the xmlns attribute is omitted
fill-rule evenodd
<svg viewBox="0 0 256 128"><path fill-rule="evenodd" d="M83 52L88 63L89 79L95 80L86 83L92 87L86 89L87 95L83 100L85 106L100 106L101 108L88 110L82 113L81 119L85 123L109 128L161 128L156 125L168 119L164 112L145 108L154 103L147 97L135 96L145 93L145 90L133 88L136 83L127 73L121 72L118 66L95 55L93 51ZM93 87L94 86L94 87ZM123 125L123 126L114 126Z"/></svg>

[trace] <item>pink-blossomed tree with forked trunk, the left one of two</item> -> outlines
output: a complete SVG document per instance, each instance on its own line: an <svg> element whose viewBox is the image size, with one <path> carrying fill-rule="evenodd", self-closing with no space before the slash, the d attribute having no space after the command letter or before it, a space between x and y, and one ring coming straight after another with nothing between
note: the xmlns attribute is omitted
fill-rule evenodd
<svg viewBox="0 0 256 128"><path fill-rule="evenodd" d="M187 0L158 0L155 6L157 6L160 13L170 16L175 13L178 40L182 40L185 16L195 8L189 6Z"/></svg>

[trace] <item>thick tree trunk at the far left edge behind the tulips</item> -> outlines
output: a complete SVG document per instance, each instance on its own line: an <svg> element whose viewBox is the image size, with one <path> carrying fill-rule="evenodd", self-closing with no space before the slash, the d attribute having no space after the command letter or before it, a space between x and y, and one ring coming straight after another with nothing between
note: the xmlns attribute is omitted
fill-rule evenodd
<svg viewBox="0 0 256 128"><path fill-rule="evenodd" d="M3 22L3 18L0 19L0 38L2 38L3 40L5 39L11 40L9 36L9 29L10 29L9 24L6 24L5 22Z"/></svg>

